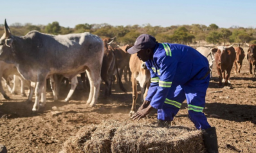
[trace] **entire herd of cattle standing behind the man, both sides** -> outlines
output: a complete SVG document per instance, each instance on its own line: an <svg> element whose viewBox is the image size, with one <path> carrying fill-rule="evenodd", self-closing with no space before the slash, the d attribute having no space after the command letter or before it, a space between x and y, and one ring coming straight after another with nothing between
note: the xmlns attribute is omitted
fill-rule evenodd
<svg viewBox="0 0 256 153"><path fill-rule="evenodd" d="M113 38L114 39L114 38ZM77 75L86 82L89 81L89 98L87 104L96 104L101 80L105 82L105 97L111 95L111 87L115 76L123 92L122 74L125 82L132 82L133 105L130 116L136 111L138 98L137 84L141 87L141 100L145 99L150 85L150 73L145 63L129 55L127 49L131 45L117 46L113 39L100 39L91 33L73 33L68 35L49 35L39 31L30 31L22 37L12 35L5 21L5 33L0 39L0 77L6 82L10 93L15 92L15 82L21 80L21 94L24 84L30 87L28 100L32 101L35 93L35 103L32 111L38 111L46 104L46 79L50 78L54 100L58 100L59 87L62 78L71 81L71 89L65 102L73 95L78 85ZM250 62L250 73L255 75L256 45L250 45L247 58ZM216 46L216 48L196 48L209 62L210 69L215 62L219 75L219 86L230 84L230 72L235 64L235 73L240 73L244 50L238 46ZM253 68L253 71L252 71ZM85 73L86 72L86 73ZM14 76L14 87L10 87L10 77ZM127 78L129 76L129 79ZM212 73L210 73L212 77ZM9 99L0 82L0 91L5 99Z"/></svg>

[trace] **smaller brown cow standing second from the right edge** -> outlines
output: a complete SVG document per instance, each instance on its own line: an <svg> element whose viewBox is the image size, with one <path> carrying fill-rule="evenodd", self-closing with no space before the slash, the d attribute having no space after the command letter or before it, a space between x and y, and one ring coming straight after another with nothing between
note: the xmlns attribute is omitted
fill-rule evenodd
<svg viewBox="0 0 256 153"><path fill-rule="evenodd" d="M238 44L238 47L235 48L235 74L240 73L241 67L242 67L242 60L244 60L245 54L244 49L240 47L240 44Z"/></svg>

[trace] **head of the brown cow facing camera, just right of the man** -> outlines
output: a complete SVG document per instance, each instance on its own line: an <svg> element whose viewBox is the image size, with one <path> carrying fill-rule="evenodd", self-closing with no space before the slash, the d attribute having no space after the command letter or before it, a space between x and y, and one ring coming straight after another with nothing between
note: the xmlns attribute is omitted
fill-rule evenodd
<svg viewBox="0 0 256 153"><path fill-rule="evenodd" d="M228 48L231 48L233 46L217 46L217 48L212 49L212 51L215 51L215 62L217 65L223 65L224 62L226 62L226 57L230 55L230 50Z"/></svg>

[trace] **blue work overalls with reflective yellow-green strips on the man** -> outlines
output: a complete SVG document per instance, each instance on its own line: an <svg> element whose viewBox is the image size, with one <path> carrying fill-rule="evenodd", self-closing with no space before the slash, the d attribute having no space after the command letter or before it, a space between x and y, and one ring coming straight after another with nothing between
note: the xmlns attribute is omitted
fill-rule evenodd
<svg viewBox="0 0 256 153"><path fill-rule="evenodd" d="M187 99L188 116L196 128L210 128L203 113L209 65L201 53L181 44L158 43L146 66L151 72L151 86L145 100L158 109L158 120L172 121Z"/></svg>

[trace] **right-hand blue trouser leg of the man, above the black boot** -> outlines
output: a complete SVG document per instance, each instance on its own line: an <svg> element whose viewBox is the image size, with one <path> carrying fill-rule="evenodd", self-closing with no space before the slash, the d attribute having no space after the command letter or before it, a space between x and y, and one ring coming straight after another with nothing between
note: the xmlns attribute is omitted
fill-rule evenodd
<svg viewBox="0 0 256 153"><path fill-rule="evenodd" d="M209 80L210 76L204 80L190 80L185 85L182 85L188 102L188 116L197 129L210 128L206 116L203 113Z"/></svg>

